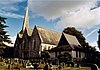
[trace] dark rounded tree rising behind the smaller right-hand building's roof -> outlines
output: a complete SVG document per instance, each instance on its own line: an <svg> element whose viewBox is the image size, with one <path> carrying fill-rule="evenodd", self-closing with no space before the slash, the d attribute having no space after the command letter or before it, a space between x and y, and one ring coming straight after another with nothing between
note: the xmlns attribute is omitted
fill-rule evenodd
<svg viewBox="0 0 100 70"><path fill-rule="evenodd" d="M86 42L85 42L85 37L83 36L83 34L76 30L75 27L68 27L68 28L65 28L63 30L64 33L67 33L67 34L70 34L70 35L73 35L73 36L76 36L76 38L78 39L78 41L80 42L80 44L85 47L86 45Z"/></svg>

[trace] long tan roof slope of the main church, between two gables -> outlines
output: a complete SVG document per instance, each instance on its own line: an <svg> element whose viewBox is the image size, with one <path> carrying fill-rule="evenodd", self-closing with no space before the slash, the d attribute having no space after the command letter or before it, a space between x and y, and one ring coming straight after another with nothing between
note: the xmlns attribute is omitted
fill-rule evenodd
<svg viewBox="0 0 100 70"><path fill-rule="evenodd" d="M39 26L36 26L36 28L38 30L40 39L43 43L52 44L52 45L58 44L61 37L61 33L49 29L45 29Z"/></svg>

